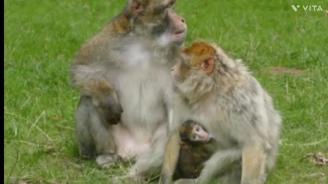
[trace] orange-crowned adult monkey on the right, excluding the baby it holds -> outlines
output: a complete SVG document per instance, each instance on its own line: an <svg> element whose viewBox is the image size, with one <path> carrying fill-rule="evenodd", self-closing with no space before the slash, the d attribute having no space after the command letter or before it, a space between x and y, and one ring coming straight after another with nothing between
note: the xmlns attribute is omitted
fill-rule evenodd
<svg viewBox="0 0 328 184"><path fill-rule="evenodd" d="M201 122L217 142L197 179L176 183L264 183L275 165L281 118L271 97L241 61L219 46L195 42L184 48L172 68L176 87L172 129L161 183L171 183L179 153L178 126Z"/></svg>

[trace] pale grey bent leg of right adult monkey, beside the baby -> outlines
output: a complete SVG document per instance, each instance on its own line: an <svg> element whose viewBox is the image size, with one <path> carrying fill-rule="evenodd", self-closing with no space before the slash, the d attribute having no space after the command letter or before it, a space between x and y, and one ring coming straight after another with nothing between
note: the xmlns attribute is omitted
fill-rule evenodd
<svg viewBox="0 0 328 184"><path fill-rule="evenodd" d="M204 169L197 179L197 183L208 183L215 175L224 173L229 166L241 159L242 152L240 148L231 148L217 151L205 163Z"/></svg>

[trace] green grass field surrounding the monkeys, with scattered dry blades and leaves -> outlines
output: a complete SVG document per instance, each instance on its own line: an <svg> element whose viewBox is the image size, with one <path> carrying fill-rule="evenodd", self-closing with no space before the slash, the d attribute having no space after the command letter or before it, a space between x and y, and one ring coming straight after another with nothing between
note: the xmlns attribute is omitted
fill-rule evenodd
<svg viewBox="0 0 328 184"><path fill-rule="evenodd" d="M79 157L69 67L81 44L124 1L5 0L6 183L111 183L128 166L98 170ZM295 12L290 5L321 5ZM204 38L247 63L282 113L281 149L267 183L325 183L328 166L328 1L178 0L186 44Z"/></svg>

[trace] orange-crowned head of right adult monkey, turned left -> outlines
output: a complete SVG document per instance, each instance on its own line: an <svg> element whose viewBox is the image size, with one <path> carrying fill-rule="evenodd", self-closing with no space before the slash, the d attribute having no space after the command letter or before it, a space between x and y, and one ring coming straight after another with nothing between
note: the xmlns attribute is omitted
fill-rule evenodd
<svg viewBox="0 0 328 184"><path fill-rule="evenodd" d="M172 77L179 92L199 97L214 85L215 49L196 42L180 52L178 62L172 67Z"/></svg>

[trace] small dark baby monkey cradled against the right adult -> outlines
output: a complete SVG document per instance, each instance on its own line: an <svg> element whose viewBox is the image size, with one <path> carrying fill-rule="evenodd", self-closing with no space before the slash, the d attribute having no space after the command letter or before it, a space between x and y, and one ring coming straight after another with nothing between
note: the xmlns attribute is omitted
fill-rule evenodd
<svg viewBox="0 0 328 184"><path fill-rule="evenodd" d="M195 179L204 168L204 162L215 151L215 140L207 130L193 120L187 120L179 128L180 155L174 179Z"/></svg>

